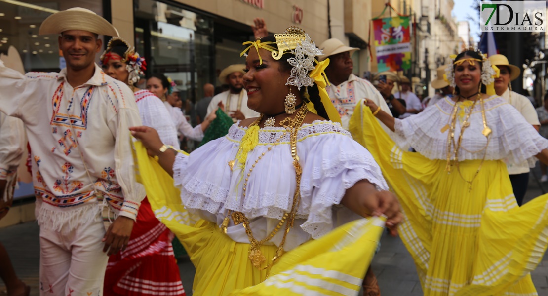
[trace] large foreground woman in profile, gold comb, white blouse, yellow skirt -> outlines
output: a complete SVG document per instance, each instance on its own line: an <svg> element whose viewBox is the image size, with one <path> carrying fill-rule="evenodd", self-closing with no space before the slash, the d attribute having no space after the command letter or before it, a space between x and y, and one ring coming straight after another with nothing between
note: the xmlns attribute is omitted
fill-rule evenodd
<svg viewBox="0 0 548 296"><path fill-rule="evenodd" d="M290 28L248 44L244 86L259 118L188 156L153 129L130 129L159 158L138 143L156 216L196 266L195 295L356 294L367 269L356 261L372 259L385 219L400 222L396 198L367 150L329 121L340 117L324 90L328 61L317 63L310 37ZM155 195L173 190L160 165L180 190L171 201Z"/></svg>

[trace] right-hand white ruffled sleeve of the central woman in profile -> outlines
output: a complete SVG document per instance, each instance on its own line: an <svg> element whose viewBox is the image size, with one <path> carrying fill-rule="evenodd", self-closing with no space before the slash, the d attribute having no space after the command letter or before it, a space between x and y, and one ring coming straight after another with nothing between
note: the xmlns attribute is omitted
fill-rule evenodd
<svg viewBox="0 0 548 296"><path fill-rule="evenodd" d="M387 190L373 156L350 136L328 134L303 141L306 158L302 166L301 203L309 213L302 230L314 239L359 216L338 206L346 190L367 179L379 190ZM298 146L299 150L299 146Z"/></svg>

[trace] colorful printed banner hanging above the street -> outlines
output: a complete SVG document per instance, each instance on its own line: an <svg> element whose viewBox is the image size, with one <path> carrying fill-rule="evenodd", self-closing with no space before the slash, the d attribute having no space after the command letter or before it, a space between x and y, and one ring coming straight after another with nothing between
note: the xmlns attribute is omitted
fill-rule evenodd
<svg viewBox="0 0 548 296"><path fill-rule="evenodd" d="M411 67L409 16L373 20L378 71L402 71Z"/></svg>

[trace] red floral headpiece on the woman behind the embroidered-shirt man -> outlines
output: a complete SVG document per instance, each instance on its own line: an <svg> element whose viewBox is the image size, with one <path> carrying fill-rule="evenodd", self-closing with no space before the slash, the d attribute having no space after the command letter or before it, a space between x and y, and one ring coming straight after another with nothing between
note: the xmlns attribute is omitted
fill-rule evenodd
<svg viewBox="0 0 548 296"><path fill-rule="evenodd" d="M117 46L128 48L125 51L124 56L121 57L121 59L118 59L115 53L112 53L112 48ZM127 41L120 37L113 37L112 39L110 39L109 43L106 46L105 52L100 57L100 60L103 65L109 62L109 60L120 60L121 62L125 63L125 69L127 69L127 71L129 72L129 85L137 83L141 77L145 76L145 58L136 53L135 48L129 45Z"/></svg>

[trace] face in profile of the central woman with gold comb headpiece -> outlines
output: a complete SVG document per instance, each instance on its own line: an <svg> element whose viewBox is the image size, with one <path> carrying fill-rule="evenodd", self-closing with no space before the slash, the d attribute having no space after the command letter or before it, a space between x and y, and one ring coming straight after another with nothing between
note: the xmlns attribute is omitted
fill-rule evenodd
<svg viewBox="0 0 548 296"><path fill-rule="evenodd" d="M284 112L284 100L289 92L286 85L290 70L284 69L281 62L274 60L270 51L259 49L262 64L256 50L249 50L246 58L246 74L243 76L244 88L247 90L247 106L259 113L278 114ZM283 58L282 58L283 59ZM293 94L298 90L292 89Z"/></svg>

